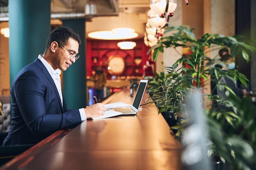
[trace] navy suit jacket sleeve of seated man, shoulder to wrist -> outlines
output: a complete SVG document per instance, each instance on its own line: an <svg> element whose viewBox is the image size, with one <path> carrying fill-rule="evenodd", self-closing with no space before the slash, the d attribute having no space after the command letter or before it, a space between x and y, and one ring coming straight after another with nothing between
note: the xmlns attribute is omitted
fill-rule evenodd
<svg viewBox="0 0 256 170"><path fill-rule="evenodd" d="M45 68L46 70L46 68ZM19 109L33 133L51 133L74 128L81 123L79 110L67 111L61 106L52 77L40 71L25 71L16 80L11 90L14 96L13 109Z"/></svg>

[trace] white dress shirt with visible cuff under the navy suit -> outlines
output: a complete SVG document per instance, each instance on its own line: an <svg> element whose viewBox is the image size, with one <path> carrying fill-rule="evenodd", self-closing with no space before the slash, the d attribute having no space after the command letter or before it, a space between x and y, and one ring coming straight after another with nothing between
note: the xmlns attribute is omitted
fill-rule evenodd
<svg viewBox="0 0 256 170"><path fill-rule="evenodd" d="M58 94L61 98L61 104L63 106L63 96L62 96L62 91L61 91L61 70L60 69L56 69L54 70L52 68L52 66L43 58L42 55L38 55L38 59L44 64L44 66L46 67L47 71L50 73L50 75L52 76L52 79L54 80L54 83L56 85L56 88L58 89ZM85 111L84 108L80 108L79 109L79 113L80 113L80 117L81 117L81 121L85 121L86 115L85 115Z"/></svg>

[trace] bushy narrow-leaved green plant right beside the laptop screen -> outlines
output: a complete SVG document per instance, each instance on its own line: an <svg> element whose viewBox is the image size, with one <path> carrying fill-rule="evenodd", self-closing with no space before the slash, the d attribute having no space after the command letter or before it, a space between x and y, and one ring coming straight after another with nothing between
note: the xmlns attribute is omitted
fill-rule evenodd
<svg viewBox="0 0 256 170"><path fill-rule="evenodd" d="M179 70L173 67L166 67L168 73L161 71L155 73L154 77L146 77L148 79L148 93L150 97L146 99L144 104L154 103L158 108L158 113L162 113L165 119L176 117L179 106L184 100L180 93L180 74Z"/></svg>

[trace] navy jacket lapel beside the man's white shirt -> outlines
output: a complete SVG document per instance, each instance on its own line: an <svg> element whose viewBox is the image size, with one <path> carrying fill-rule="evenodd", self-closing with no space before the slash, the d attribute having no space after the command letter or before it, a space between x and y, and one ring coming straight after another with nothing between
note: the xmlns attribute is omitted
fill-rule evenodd
<svg viewBox="0 0 256 170"><path fill-rule="evenodd" d="M36 65L38 66L38 68L40 68L42 70L42 73L47 77L47 79L49 80L49 82L52 84L52 87L54 88L54 91L58 97L58 102L61 106L61 110L62 112L64 112L63 110L63 106L61 104L61 98L60 98L60 95L58 94L58 89L56 88L56 85L54 83L54 80L52 79L52 76L50 75L50 73L47 71L45 65L43 65L43 63L37 58L35 61ZM64 105L64 103L63 103Z"/></svg>

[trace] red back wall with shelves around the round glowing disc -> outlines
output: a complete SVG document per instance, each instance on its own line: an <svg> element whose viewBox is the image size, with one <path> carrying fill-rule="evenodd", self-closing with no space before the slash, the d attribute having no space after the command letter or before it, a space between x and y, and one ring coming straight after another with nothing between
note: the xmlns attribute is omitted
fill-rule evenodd
<svg viewBox="0 0 256 170"><path fill-rule="evenodd" d="M91 76L92 72L97 66L101 66L103 71L107 74L108 79L111 76L108 73L107 65L108 59L113 55L119 55L125 60L125 70L119 76L142 76L143 65L146 64L146 60L149 55L147 55L148 46L144 44L143 39L132 40L137 43L136 47L131 50L121 50L117 47L117 40L87 40L86 44L86 66L87 66L87 76ZM141 59L140 64L136 64L135 60Z"/></svg>

